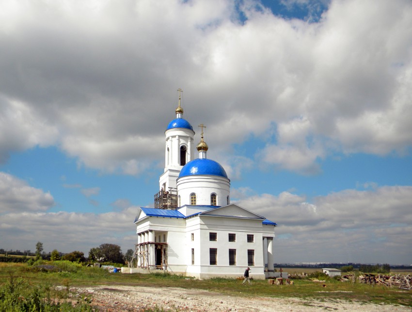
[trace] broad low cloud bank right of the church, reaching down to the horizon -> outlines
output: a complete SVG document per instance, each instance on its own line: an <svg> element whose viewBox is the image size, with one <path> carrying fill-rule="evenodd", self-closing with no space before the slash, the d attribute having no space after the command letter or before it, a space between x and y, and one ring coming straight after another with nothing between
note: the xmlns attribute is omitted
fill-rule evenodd
<svg viewBox="0 0 412 312"><path fill-rule="evenodd" d="M239 201L277 222L276 262L410 263L412 187L343 190L307 203L283 192ZM301 258L304 255L304 258Z"/></svg>

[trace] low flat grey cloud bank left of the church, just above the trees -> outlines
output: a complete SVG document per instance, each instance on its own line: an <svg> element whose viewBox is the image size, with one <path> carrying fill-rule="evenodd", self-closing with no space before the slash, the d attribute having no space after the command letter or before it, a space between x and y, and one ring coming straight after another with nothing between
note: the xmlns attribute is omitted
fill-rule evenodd
<svg viewBox="0 0 412 312"><path fill-rule="evenodd" d="M133 218L137 208L129 207L120 212L91 213L44 213L20 212L2 216L0 235L7 237L7 247L34 250L37 241L45 251L61 252L80 250L88 255L92 247L112 243L122 251L134 249L136 231ZM113 222L113 221L116 222Z"/></svg>

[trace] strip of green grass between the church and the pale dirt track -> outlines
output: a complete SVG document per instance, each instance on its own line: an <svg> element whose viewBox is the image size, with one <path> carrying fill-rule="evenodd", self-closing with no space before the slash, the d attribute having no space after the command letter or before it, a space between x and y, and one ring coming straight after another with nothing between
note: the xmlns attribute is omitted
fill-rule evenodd
<svg viewBox="0 0 412 312"><path fill-rule="evenodd" d="M51 265L52 263L47 263ZM10 280L26 281L28 284L40 285L42 289L50 289L52 286L61 286L61 289L69 290L71 287L93 287L105 285L105 287L134 286L156 287L164 291L167 288L183 288L215 292L225 296L248 296L253 300L257 297L268 298L301 298L319 301L345 301L359 303L389 304L394 306L412 307L412 292L388 288L380 285L366 285L360 283L341 282L328 277L320 276L317 279L322 282L310 280L294 280L294 285L269 285L268 281L254 281L252 287L247 289L241 281L236 279L212 279L196 280L183 276L174 276L163 273L154 274L121 274L109 273L106 270L95 267L84 267L68 262L56 262L62 270L59 272L45 272L20 263L0 263L0 288ZM320 272L317 268L285 268L291 273ZM68 291L67 291L68 293ZM1 294L1 293L0 293ZM57 295L55 295L57 296ZM409 308L410 309L410 308ZM0 309L1 310L1 309ZM151 311L151 310L147 310Z"/></svg>

